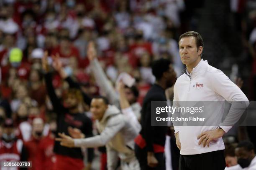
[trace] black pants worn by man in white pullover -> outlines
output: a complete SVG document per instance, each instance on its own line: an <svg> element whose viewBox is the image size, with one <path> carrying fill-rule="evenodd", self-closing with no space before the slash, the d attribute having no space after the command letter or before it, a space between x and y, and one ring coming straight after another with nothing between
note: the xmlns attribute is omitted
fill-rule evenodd
<svg viewBox="0 0 256 170"><path fill-rule="evenodd" d="M224 150L179 157L179 170L224 170L225 166Z"/></svg>

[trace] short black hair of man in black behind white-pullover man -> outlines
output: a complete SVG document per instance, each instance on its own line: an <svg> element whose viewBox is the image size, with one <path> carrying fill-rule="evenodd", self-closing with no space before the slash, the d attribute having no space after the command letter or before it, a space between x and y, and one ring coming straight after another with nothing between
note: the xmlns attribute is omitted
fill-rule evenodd
<svg viewBox="0 0 256 170"><path fill-rule="evenodd" d="M156 80L160 80L161 77L163 77L164 72L169 70L170 64L170 60L163 58L153 61L151 68L153 75L156 77Z"/></svg>

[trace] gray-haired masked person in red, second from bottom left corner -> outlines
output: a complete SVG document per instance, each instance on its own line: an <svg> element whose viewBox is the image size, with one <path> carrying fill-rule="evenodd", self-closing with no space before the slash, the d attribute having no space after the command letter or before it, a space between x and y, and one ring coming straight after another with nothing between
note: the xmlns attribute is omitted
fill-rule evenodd
<svg viewBox="0 0 256 170"><path fill-rule="evenodd" d="M35 155L38 152L38 146L43 138L44 121L41 118L35 118L32 122L32 136L30 140L24 143L28 150L28 161L32 162L32 170L35 170L38 165Z"/></svg>

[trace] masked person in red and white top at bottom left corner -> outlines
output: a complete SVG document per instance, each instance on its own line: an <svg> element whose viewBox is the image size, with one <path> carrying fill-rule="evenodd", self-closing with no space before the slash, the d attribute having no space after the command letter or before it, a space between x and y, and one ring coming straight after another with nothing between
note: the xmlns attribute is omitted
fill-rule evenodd
<svg viewBox="0 0 256 170"><path fill-rule="evenodd" d="M0 139L0 162L27 161L27 150L22 140L17 139L14 133L12 119L6 119L3 125L3 135ZM16 170L17 168L13 168ZM20 170L26 168L20 168Z"/></svg>

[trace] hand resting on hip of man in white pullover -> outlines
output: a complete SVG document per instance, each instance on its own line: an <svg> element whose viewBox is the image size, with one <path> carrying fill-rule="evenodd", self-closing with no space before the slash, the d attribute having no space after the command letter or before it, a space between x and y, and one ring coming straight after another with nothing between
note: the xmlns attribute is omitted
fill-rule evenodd
<svg viewBox="0 0 256 170"><path fill-rule="evenodd" d="M202 144L203 147L205 147L206 145L209 147L209 143L212 140L217 140L218 138L221 138L224 135L224 133L225 133L224 130L219 128L215 130L209 130L209 131L203 132L197 136L197 139L200 139L198 142L198 145Z"/></svg>

